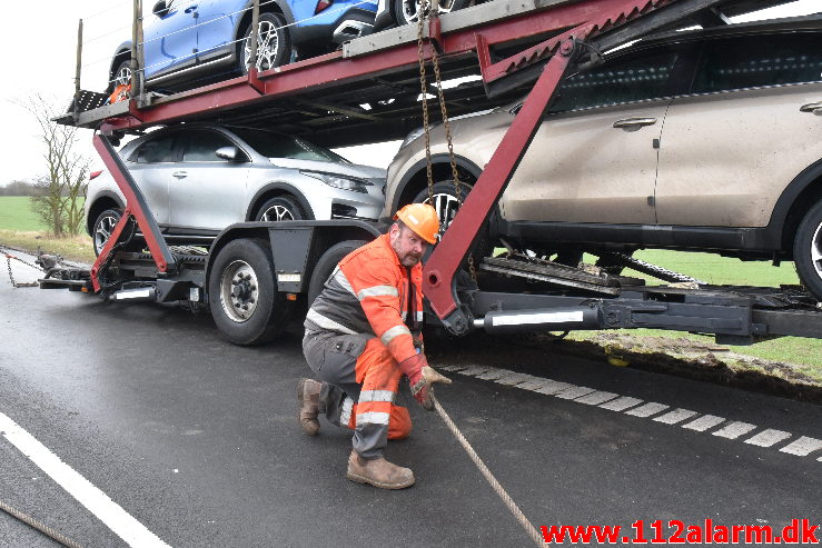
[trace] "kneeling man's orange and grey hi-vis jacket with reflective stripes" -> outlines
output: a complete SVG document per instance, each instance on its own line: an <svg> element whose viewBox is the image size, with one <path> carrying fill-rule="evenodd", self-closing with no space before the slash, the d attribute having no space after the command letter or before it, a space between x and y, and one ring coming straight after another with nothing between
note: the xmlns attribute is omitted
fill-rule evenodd
<svg viewBox="0 0 822 548"><path fill-rule="evenodd" d="M334 270L306 316L309 331L373 333L397 361L417 353L413 337L423 326L423 267L408 271L388 235L348 253ZM409 290L412 298L409 299Z"/></svg>

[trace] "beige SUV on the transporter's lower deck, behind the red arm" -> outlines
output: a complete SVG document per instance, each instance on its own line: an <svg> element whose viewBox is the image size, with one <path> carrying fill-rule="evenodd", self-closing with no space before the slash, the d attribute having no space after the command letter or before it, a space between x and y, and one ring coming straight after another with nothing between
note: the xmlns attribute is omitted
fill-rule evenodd
<svg viewBox="0 0 822 548"><path fill-rule="evenodd" d="M518 108L453 121L467 189ZM419 133L388 169L384 215L428 199ZM462 197L442 127L432 143L447 223ZM489 230L567 257L669 248L794 260L822 300L822 18L671 33L570 77Z"/></svg>

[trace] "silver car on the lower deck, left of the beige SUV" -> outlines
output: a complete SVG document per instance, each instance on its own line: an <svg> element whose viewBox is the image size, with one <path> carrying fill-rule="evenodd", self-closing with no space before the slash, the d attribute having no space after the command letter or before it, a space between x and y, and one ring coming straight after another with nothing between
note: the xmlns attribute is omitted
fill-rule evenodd
<svg viewBox="0 0 822 548"><path fill-rule="evenodd" d="M120 157L170 241L208 243L242 221L376 220L385 170L298 137L187 123L126 145ZM126 200L110 173L89 183L86 219L99 253Z"/></svg>

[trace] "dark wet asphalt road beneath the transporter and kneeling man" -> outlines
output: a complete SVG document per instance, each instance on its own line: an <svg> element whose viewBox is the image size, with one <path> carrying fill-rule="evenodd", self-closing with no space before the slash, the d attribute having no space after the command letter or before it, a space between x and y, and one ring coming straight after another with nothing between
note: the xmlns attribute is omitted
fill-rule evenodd
<svg viewBox="0 0 822 548"><path fill-rule="evenodd" d="M536 526L644 519L650 537L654 519L820 521L819 406L494 339L440 341L432 355L454 379L438 390L443 406ZM0 418L166 544L529 546L439 418L414 401L415 431L387 458L410 466L417 485L347 481L349 435L326 422L308 438L296 424L307 372L298 330L239 348L209 315L0 278ZM110 509L83 506L14 439L0 435L0 500L80 545L128 546L107 525ZM6 546L57 545L0 512Z"/></svg>

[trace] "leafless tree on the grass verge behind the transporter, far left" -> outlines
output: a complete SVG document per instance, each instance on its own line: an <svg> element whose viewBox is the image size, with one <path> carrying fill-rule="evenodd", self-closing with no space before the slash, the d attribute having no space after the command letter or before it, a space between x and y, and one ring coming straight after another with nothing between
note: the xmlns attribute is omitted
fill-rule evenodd
<svg viewBox="0 0 822 548"><path fill-rule="evenodd" d="M82 228L82 205L91 161L76 151L77 128L52 121L62 112L42 96L21 103L40 126L46 173L38 179L33 211L55 236L77 236Z"/></svg>

